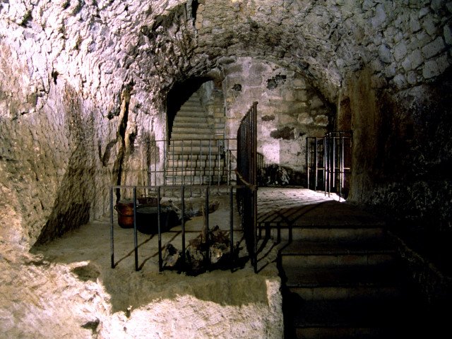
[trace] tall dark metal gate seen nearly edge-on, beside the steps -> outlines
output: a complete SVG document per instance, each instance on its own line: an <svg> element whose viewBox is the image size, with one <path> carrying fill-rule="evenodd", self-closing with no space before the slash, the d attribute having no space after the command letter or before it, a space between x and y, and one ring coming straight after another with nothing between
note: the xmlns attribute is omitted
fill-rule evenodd
<svg viewBox="0 0 452 339"><path fill-rule="evenodd" d="M251 264L257 271L257 102L237 131L237 204Z"/></svg>

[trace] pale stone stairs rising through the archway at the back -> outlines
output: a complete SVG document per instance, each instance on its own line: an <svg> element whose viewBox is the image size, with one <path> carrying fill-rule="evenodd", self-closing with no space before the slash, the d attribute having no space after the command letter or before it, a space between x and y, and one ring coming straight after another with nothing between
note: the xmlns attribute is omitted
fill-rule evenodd
<svg viewBox="0 0 452 339"><path fill-rule="evenodd" d="M227 181L222 136L215 138L220 123L218 118L213 119L208 118L198 93L191 95L177 112L167 150L167 184L217 184Z"/></svg>

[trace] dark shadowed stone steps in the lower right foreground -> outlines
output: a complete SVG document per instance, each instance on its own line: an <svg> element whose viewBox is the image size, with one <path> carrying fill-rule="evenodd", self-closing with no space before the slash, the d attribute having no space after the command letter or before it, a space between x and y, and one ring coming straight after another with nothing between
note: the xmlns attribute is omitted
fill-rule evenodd
<svg viewBox="0 0 452 339"><path fill-rule="evenodd" d="M278 215L270 232L280 237L285 339L429 338L422 298L382 222L338 201Z"/></svg>

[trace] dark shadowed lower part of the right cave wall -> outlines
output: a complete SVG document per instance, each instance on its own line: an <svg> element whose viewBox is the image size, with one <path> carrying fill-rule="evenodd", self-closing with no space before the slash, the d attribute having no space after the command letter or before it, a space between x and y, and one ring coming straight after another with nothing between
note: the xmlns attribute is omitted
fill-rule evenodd
<svg viewBox="0 0 452 339"><path fill-rule="evenodd" d="M452 232L450 79L449 70L432 83L388 93L371 90L364 73L353 93L359 100L351 100L352 110L366 112L352 119L352 199L384 210L399 222L394 227L439 238Z"/></svg>

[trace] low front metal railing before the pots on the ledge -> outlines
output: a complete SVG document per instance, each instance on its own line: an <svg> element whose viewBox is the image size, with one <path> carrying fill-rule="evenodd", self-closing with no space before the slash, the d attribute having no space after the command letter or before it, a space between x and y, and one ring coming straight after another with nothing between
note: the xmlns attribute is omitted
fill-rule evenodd
<svg viewBox="0 0 452 339"><path fill-rule="evenodd" d="M141 244L140 246L138 246L138 225L137 225L137 207L138 207L138 196L137 196L137 190L143 190L146 192L146 194L154 194L156 197L156 211L157 211L157 232L155 234L157 234L158 236L158 267L159 267L159 271L161 272L162 270L165 269L164 265L163 265L163 249L164 246L162 246L162 232L167 231L164 227L164 222L162 221L162 213L163 212L163 208L162 208L162 204L161 204L161 199L162 199L162 194L164 191L172 191L172 190L179 190L180 191L180 196L181 196L181 203L182 203L182 207L181 207L181 220L180 220L180 227L181 230L178 231L177 235L180 235L181 237L181 244L180 244L180 254L182 256L182 266L179 266L179 269L182 271L187 271L189 270L188 266L186 266L187 264L187 260L186 260L186 227L185 227L185 223L186 223L186 206L185 206L185 191L186 191L186 186L126 186L126 185L119 185L119 186L111 186L110 189L110 259L111 259L111 267L115 268L117 266L117 262L115 262L115 257L114 257L114 191L117 190L124 190L124 189L128 189L129 191L132 191L132 198L131 201L133 202L133 230L131 230L131 235L133 236L133 254L134 254L134 263L135 263L135 270L138 271L141 268L141 265L143 263L139 263L138 261L138 249L140 248L140 246L145 246L144 244ZM196 186L196 189L201 189L204 191L205 193L205 210L206 213L204 213L204 225L205 225L205 234L209 234L209 206L210 206L210 187L209 186L201 186L198 185ZM240 189L240 186L221 186L221 189L223 189L224 191L228 192L229 195L229 206L230 206L230 213L229 213L229 233L230 233L230 268L233 269L235 266L235 248L234 248L234 213L233 213L233 196L234 194L237 194L237 190ZM149 225L150 227L155 227L155 225ZM206 268L210 268L212 265L210 263L210 258L209 258L209 254L210 254L210 246L209 246L209 242L210 239L208 236L206 236L206 244L205 244L205 254L204 254L204 258L206 258L205 260L205 266Z"/></svg>

